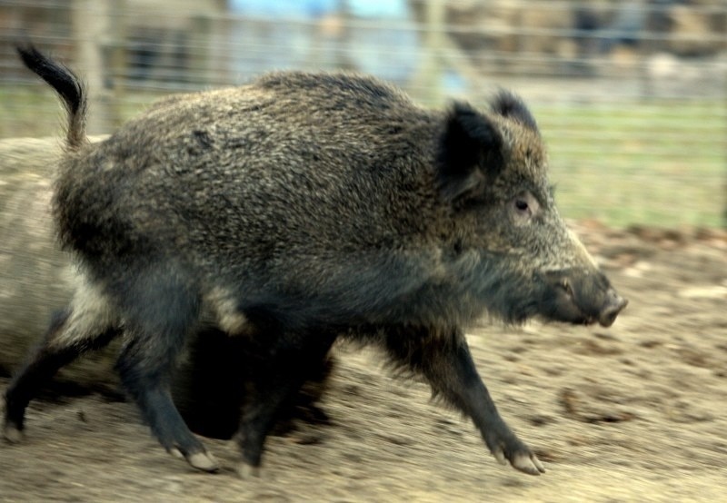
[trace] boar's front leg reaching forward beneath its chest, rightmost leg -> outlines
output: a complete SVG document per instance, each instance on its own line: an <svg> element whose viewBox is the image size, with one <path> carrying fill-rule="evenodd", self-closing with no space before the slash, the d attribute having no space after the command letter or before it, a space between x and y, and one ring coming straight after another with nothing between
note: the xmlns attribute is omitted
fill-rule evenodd
<svg viewBox="0 0 727 503"><path fill-rule="evenodd" d="M450 334L411 327L390 330L386 345L395 360L423 375L436 395L473 419L498 461L510 461L513 468L531 475L545 471L500 417L460 330Z"/></svg>

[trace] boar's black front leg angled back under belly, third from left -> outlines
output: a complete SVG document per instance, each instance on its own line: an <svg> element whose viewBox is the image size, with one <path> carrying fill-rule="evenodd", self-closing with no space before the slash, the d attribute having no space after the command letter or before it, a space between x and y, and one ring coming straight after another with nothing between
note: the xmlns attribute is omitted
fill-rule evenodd
<svg viewBox="0 0 727 503"><path fill-rule="evenodd" d="M246 400L237 437L243 453L238 468L242 478L258 475L265 438L278 412L294 399L312 369L321 365L336 338L334 330L324 329L288 332L267 327L265 331L265 338L276 342L266 357L249 362L252 396Z"/></svg>

